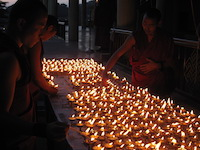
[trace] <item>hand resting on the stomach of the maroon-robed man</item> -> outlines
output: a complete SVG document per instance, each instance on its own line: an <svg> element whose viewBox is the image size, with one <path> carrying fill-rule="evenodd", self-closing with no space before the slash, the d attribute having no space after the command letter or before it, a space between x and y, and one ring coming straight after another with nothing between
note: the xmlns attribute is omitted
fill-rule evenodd
<svg viewBox="0 0 200 150"><path fill-rule="evenodd" d="M146 64L143 64L143 65L140 65L140 70L144 73L144 74L147 74L153 70L158 70L160 69L160 64L159 63L156 63L154 62L153 60L151 59L148 59L146 58L146 60L148 61L148 63Z"/></svg>

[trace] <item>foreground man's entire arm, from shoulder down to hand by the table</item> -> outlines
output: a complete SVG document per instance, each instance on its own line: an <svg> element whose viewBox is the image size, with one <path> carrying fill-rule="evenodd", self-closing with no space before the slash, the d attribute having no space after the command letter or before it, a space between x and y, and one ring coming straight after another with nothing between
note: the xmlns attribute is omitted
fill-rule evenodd
<svg viewBox="0 0 200 150"><path fill-rule="evenodd" d="M65 139L68 125L62 122L40 124L27 122L11 114L16 82L19 80L21 70L16 57L11 53L0 55L0 132L3 135L20 134L43 136L52 140ZM20 108L15 108L20 109Z"/></svg>

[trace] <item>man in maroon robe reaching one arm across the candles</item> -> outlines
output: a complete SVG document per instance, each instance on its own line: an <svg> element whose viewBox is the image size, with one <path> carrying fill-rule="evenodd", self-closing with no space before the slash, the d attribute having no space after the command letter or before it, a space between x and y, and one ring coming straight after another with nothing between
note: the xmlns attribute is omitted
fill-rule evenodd
<svg viewBox="0 0 200 150"><path fill-rule="evenodd" d="M142 29L129 36L123 45L111 56L103 72L103 83L117 60L131 51L132 84L148 88L150 93L168 96L174 89L174 46L171 36L158 25L161 13L148 9L143 16Z"/></svg>

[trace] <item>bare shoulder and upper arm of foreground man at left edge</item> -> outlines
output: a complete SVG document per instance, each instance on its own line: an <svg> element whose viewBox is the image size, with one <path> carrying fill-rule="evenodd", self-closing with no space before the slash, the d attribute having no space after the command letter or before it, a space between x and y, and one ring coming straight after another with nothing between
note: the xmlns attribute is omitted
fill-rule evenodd
<svg viewBox="0 0 200 150"><path fill-rule="evenodd" d="M16 81L20 78L20 68L12 53L0 55L0 111L9 112L12 105Z"/></svg>

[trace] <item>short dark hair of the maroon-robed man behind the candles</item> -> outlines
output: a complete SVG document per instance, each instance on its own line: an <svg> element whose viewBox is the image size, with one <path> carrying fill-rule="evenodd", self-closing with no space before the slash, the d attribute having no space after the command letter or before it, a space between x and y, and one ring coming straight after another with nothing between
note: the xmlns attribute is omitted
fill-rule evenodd
<svg viewBox="0 0 200 150"><path fill-rule="evenodd" d="M145 11L144 15L146 15L148 18L154 19L157 21L157 23L161 19L161 13L156 8L149 8Z"/></svg>

